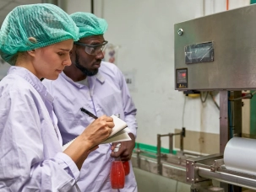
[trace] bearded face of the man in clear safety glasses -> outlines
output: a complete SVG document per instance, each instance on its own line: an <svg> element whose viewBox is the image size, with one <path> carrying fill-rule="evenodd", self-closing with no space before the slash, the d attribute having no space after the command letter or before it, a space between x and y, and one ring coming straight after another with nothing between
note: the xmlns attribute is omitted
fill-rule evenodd
<svg viewBox="0 0 256 192"><path fill-rule="evenodd" d="M79 43L86 45L101 45L104 43L103 35L94 35L85 37L79 40ZM101 67L101 60L104 58L103 52L95 47L96 52L87 51L90 47L84 45L74 45L71 61L73 64L79 64L84 68L83 73L85 76L93 76L98 72ZM90 54L89 54L90 53ZM91 55L93 54L93 55Z"/></svg>

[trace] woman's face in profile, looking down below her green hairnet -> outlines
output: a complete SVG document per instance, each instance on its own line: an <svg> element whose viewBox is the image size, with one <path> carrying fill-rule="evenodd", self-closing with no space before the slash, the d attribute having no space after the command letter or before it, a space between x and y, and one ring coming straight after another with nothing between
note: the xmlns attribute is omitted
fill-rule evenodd
<svg viewBox="0 0 256 192"><path fill-rule="evenodd" d="M63 40L57 44L36 49L32 61L35 76L50 80L57 79L65 66L70 66L70 51L74 40Z"/></svg>

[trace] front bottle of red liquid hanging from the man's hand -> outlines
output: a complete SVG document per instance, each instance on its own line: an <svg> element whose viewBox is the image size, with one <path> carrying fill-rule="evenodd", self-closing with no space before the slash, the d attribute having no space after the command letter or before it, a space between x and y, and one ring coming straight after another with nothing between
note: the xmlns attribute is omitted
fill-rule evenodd
<svg viewBox="0 0 256 192"><path fill-rule="evenodd" d="M112 169L110 173L112 189L123 189L125 183L125 174L123 163L120 157L112 162Z"/></svg>

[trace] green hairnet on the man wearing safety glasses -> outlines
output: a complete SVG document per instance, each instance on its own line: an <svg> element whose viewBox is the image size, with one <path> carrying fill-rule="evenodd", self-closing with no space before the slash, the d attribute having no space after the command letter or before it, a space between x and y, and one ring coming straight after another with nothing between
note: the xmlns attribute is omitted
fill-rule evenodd
<svg viewBox="0 0 256 192"><path fill-rule="evenodd" d="M106 20L97 18L92 13L77 12L70 14L70 17L79 27L79 39L92 35L103 35L106 32Z"/></svg>

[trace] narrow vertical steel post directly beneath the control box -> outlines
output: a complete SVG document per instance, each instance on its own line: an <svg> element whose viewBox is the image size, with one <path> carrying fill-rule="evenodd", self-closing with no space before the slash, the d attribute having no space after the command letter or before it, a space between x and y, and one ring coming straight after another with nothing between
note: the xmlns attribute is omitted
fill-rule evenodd
<svg viewBox="0 0 256 192"><path fill-rule="evenodd" d="M228 100L227 91L220 91L220 152L221 153L224 152L226 143L229 140L227 100Z"/></svg>

